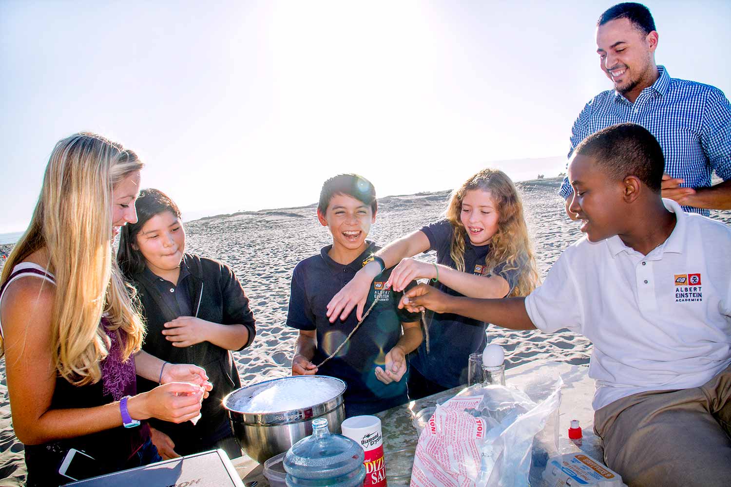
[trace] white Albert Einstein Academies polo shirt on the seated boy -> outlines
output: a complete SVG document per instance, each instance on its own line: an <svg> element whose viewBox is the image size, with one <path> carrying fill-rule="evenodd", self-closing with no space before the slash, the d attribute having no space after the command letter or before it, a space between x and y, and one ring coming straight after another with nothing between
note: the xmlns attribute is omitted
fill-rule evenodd
<svg viewBox="0 0 731 487"><path fill-rule="evenodd" d="M701 386L731 364L731 227L675 213L670 237L643 256L617 236L583 237L526 297L538 329L594 343L594 410L643 391Z"/></svg>

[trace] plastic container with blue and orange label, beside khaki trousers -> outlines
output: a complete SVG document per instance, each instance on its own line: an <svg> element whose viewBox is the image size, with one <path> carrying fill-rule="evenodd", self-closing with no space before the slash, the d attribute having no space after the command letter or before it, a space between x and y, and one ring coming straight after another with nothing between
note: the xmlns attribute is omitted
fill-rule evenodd
<svg viewBox="0 0 731 487"><path fill-rule="evenodd" d="M549 486L625 487L621 475L584 453L548 459L543 479Z"/></svg>

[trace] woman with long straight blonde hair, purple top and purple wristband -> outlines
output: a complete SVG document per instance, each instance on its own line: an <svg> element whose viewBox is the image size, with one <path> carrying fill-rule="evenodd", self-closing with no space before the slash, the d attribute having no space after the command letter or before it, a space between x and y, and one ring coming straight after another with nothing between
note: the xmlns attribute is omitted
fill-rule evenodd
<svg viewBox="0 0 731 487"><path fill-rule="evenodd" d="M159 460L144 420L189 421L211 388L200 367L140 351L143 323L112 240L137 220L142 167L99 135L58 142L0 277L0 354L28 486L77 478L84 453L85 477ZM162 385L135 395L136 375Z"/></svg>

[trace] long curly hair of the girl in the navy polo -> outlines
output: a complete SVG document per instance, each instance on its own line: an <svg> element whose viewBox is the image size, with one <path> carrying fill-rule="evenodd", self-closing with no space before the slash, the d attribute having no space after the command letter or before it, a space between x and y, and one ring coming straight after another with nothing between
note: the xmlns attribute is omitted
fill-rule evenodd
<svg viewBox="0 0 731 487"><path fill-rule="evenodd" d="M527 296L538 285L538 272L533 256L528 226L523 218L523 203L518 190L504 172L497 169L482 169L466 180L461 188L452 191L447 206L447 220L452 223L452 246L450 256L458 270L464 272L464 250L467 231L460 214L462 199L467 191L480 189L487 191L497 204L499 213L498 231L493 235L491 250L485 257L487 272L493 273L497 266L503 265L502 271L516 271L515 286L508 296Z"/></svg>

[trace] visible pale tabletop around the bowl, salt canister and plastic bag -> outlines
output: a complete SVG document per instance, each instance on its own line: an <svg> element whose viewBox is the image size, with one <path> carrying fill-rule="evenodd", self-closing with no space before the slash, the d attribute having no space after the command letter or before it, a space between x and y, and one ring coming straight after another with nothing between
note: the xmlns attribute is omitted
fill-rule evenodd
<svg viewBox="0 0 731 487"><path fill-rule="evenodd" d="M550 383L552 378L558 377L564 381L558 416L558 450L560 453L583 451L588 456L602 461L601 445L599 439L594 435L594 411L591 409L594 380L588 377L588 367L552 361L534 361L505 371L507 386L525 391L534 401L545 399L545 396L548 396L546 384ZM414 415L424 407L446 402L463 388L464 386L455 387L376 414L382 421L386 472L390 487L409 485L414 450L418 441L417 432L412 423ZM568 429L572 419L579 420L583 430L583 439L579 444L568 439ZM249 456L244 455L232 463L244 483L256 481L257 487L269 486L268 480L263 474L263 465L258 464Z"/></svg>

